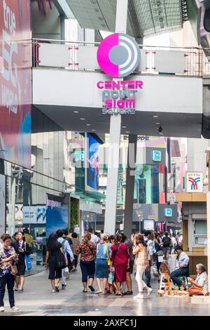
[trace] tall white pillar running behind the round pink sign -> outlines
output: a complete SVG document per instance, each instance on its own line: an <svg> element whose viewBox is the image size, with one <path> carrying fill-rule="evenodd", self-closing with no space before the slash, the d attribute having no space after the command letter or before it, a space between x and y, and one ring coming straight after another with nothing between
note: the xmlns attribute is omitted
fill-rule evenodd
<svg viewBox="0 0 210 330"><path fill-rule="evenodd" d="M126 33L128 0L117 0L116 32ZM104 232L116 232L116 202L118 194L118 167L120 158L121 115L111 115L109 132L109 159L106 187Z"/></svg>

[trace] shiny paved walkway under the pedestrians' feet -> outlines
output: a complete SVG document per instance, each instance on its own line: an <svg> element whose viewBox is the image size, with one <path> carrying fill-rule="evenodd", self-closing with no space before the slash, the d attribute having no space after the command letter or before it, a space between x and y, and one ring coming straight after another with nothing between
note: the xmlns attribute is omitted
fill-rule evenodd
<svg viewBox="0 0 210 330"><path fill-rule="evenodd" d="M96 284L95 284L96 286ZM153 279L153 286L158 286ZM83 293L80 272L71 274L66 290L51 293L48 271L27 277L24 293L15 293L18 315L141 316L141 315L210 315L210 297L161 297L154 289L150 298L134 301L132 296L95 296ZM134 293L137 284L134 281ZM7 293L6 293L7 295ZM7 312L1 315L15 315Z"/></svg>

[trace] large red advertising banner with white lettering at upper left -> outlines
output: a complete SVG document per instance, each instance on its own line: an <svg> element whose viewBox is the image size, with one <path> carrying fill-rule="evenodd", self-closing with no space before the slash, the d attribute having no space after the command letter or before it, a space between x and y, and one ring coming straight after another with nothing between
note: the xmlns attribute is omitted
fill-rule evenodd
<svg viewBox="0 0 210 330"><path fill-rule="evenodd" d="M0 0L0 157L31 167L30 1Z"/></svg>

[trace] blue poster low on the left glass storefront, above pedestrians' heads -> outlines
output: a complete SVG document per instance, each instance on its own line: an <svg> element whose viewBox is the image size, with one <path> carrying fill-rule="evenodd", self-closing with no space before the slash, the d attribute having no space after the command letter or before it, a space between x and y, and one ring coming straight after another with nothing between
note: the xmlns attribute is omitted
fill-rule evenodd
<svg viewBox="0 0 210 330"><path fill-rule="evenodd" d="M61 202L48 199L46 211L46 238L59 229L69 227L69 209Z"/></svg>

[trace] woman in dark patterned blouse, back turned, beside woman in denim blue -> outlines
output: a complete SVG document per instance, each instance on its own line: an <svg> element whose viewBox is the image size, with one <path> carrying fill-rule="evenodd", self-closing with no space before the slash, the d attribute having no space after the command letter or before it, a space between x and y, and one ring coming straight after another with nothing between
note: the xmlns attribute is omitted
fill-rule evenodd
<svg viewBox="0 0 210 330"><path fill-rule="evenodd" d="M82 271L83 292L87 292L87 278L89 277L89 289L94 292L94 272L95 272L95 256L96 244L91 242L91 234L87 232L83 238L83 242L76 248L76 254L80 255L80 268Z"/></svg>

